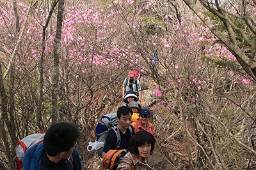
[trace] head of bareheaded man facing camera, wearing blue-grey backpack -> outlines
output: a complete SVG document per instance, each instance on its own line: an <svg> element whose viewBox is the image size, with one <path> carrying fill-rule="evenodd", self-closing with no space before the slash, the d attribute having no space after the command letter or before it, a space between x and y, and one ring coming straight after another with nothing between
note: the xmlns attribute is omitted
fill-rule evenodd
<svg viewBox="0 0 256 170"><path fill-rule="evenodd" d="M132 122L132 110L128 106L121 106L117 110L117 120L119 129L128 129Z"/></svg>

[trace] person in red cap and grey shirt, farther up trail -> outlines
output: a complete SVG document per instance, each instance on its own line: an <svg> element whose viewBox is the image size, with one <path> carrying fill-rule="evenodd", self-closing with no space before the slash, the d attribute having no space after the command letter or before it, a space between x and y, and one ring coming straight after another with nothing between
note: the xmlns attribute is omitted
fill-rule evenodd
<svg viewBox="0 0 256 170"><path fill-rule="evenodd" d="M134 71L131 70L129 71L128 77L125 78L123 87L122 87L122 97L124 99L125 97L125 92L128 92L130 90L134 91L136 95L139 96L138 102L141 103L141 85L140 81L138 81L134 77Z"/></svg>

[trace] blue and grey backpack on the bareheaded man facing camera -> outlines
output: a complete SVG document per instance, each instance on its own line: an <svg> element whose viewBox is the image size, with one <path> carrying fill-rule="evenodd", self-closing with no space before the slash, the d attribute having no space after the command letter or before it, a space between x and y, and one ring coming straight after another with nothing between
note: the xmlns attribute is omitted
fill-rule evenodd
<svg viewBox="0 0 256 170"><path fill-rule="evenodd" d="M116 113L109 113L108 115L104 115L100 118L100 122L95 127L95 134L96 134L96 141L97 142L106 142L106 138L108 136L109 131L113 129L116 133L116 149L119 148L119 145L121 143L121 136L120 132L118 131L118 127L116 125L118 124ZM132 136L132 127L129 127L129 131ZM96 150L96 152L99 154L100 157L102 157L103 147Z"/></svg>

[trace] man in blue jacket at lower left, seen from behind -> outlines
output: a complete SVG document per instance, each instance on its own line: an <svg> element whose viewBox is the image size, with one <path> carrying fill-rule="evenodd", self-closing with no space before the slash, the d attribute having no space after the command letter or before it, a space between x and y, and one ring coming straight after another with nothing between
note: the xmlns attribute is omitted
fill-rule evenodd
<svg viewBox="0 0 256 170"><path fill-rule="evenodd" d="M81 160L74 148L78 139L79 132L75 125L66 122L51 125L45 132L44 142L25 152L22 161L24 169L81 170Z"/></svg>

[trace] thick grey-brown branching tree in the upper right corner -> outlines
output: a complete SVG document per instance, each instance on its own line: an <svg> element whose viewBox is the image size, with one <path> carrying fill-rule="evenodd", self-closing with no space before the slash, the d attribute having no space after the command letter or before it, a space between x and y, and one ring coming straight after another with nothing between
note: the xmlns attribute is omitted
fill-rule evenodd
<svg viewBox="0 0 256 170"><path fill-rule="evenodd" d="M184 2L236 57L241 67L256 79L255 1L236 3L190 0Z"/></svg>

